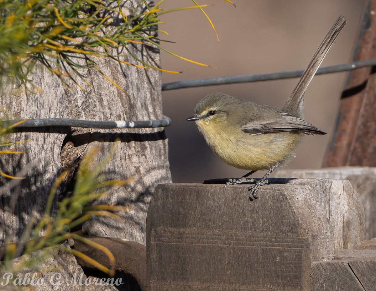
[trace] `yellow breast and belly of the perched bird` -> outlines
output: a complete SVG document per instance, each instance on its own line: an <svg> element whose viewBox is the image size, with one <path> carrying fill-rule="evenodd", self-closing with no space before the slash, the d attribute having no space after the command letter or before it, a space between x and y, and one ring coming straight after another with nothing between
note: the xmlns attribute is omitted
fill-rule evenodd
<svg viewBox="0 0 376 291"><path fill-rule="evenodd" d="M198 120L197 126L215 155L244 170L266 170L284 162L300 139L296 132L253 135L226 122Z"/></svg>

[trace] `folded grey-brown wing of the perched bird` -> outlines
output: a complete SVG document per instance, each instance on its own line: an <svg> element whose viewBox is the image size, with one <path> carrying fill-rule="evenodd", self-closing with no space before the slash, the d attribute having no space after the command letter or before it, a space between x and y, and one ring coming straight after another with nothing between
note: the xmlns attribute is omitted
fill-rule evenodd
<svg viewBox="0 0 376 291"><path fill-rule="evenodd" d="M324 135L325 132L318 130L317 127L307 121L294 117L288 113L280 113L276 118L270 119L263 123L251 121L242 126L242 130L250 134L263 134L271 132L302 132L308 135Z"/></svg>

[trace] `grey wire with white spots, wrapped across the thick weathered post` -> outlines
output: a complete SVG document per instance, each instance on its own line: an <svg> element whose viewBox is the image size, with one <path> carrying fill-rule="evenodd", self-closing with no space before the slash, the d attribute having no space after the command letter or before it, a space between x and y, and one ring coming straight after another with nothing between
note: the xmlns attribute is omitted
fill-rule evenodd
<svg viewBox="0 0 376 291"><path fill-rule="evenodd" d="M9 125L20 122L22 119L3 121ZM123 120L123 121L95 121L81 120L71 118L42 118L27 119L23 123L15 126L15 128L25 127L51 127L51 126L71 126L98 129L116 129L116 128L151 128L169 126L171 119L163 115L163 119L156 120Z"/></svg>

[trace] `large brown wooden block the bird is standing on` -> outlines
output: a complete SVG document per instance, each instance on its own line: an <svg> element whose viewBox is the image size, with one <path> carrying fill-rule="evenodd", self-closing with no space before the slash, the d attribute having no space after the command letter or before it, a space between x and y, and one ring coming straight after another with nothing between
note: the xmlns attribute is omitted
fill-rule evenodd
<svg viewBox="0 0 376 291"><path fill-rule="evenodd" d="M255 201L247 185L158 185L147 214L149 290L310 290L311 262L357 243L335 237L342 222L364 230L353 205L337 213L354 220L327 216L338 199L322 196L350 196L334 184L262 186Z"/></svg>

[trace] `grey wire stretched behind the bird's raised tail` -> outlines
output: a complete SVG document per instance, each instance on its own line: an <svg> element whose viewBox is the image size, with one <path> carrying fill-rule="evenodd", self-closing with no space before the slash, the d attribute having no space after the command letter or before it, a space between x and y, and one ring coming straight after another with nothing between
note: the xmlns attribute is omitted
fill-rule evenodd
<svg viewBox="0 0 376 291"><path fill-rule="evenodd" d="M370 60L355 61L355 62L347 63L347 64L339 64L335 66L321 67L317 70L316 75L344 72L348 70L358 69L361 67L374 66L374 65L376 65L376 58L373 58ZM247 82L259 82L259 81L297 78L297 77L301 77L303 72L304 70L296 70L296 71L287 71L287 72L258 74L258 75L240 75L240 76L177 81L177 82L163 83L162 90L174 90L174 89L182 89L182 88L189 88L189 87L202 87L202 86L213 86L213 85L223 85L223 84L247 83Z"/></svg>

